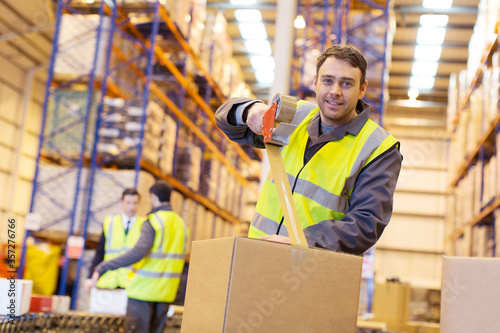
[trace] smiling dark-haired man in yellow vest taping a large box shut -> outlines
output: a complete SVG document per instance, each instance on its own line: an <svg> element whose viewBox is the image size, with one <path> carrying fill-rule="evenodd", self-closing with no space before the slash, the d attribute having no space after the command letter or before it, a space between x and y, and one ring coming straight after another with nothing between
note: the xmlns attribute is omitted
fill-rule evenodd
<svg viewBox="0 0 500 333"><path fill-rule="evenodd" d="M296 130L281 154L310 246L362 254L392 215L401 170L399 142L370 120L362 98L367 62L359 50L334 45L317 59L316 102L298 101ZM236 141L263 148L261 101L233 98L216 112L217 125ZM270 174L255 207L249 237L290 243Z"/></svg>

